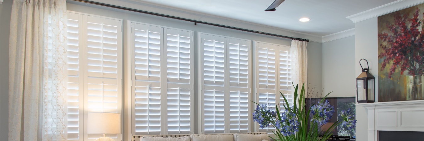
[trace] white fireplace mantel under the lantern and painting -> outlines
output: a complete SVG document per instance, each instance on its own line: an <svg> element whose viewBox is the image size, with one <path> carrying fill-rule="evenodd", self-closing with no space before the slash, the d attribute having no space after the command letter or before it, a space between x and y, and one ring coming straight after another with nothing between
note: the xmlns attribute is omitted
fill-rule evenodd
<svg viewBox="0 0 424 141"><path fill-rule="evenodd" d="M424 132L424 100L356 105L368 110L368 141L378 141L378 131Z"/></svg>

